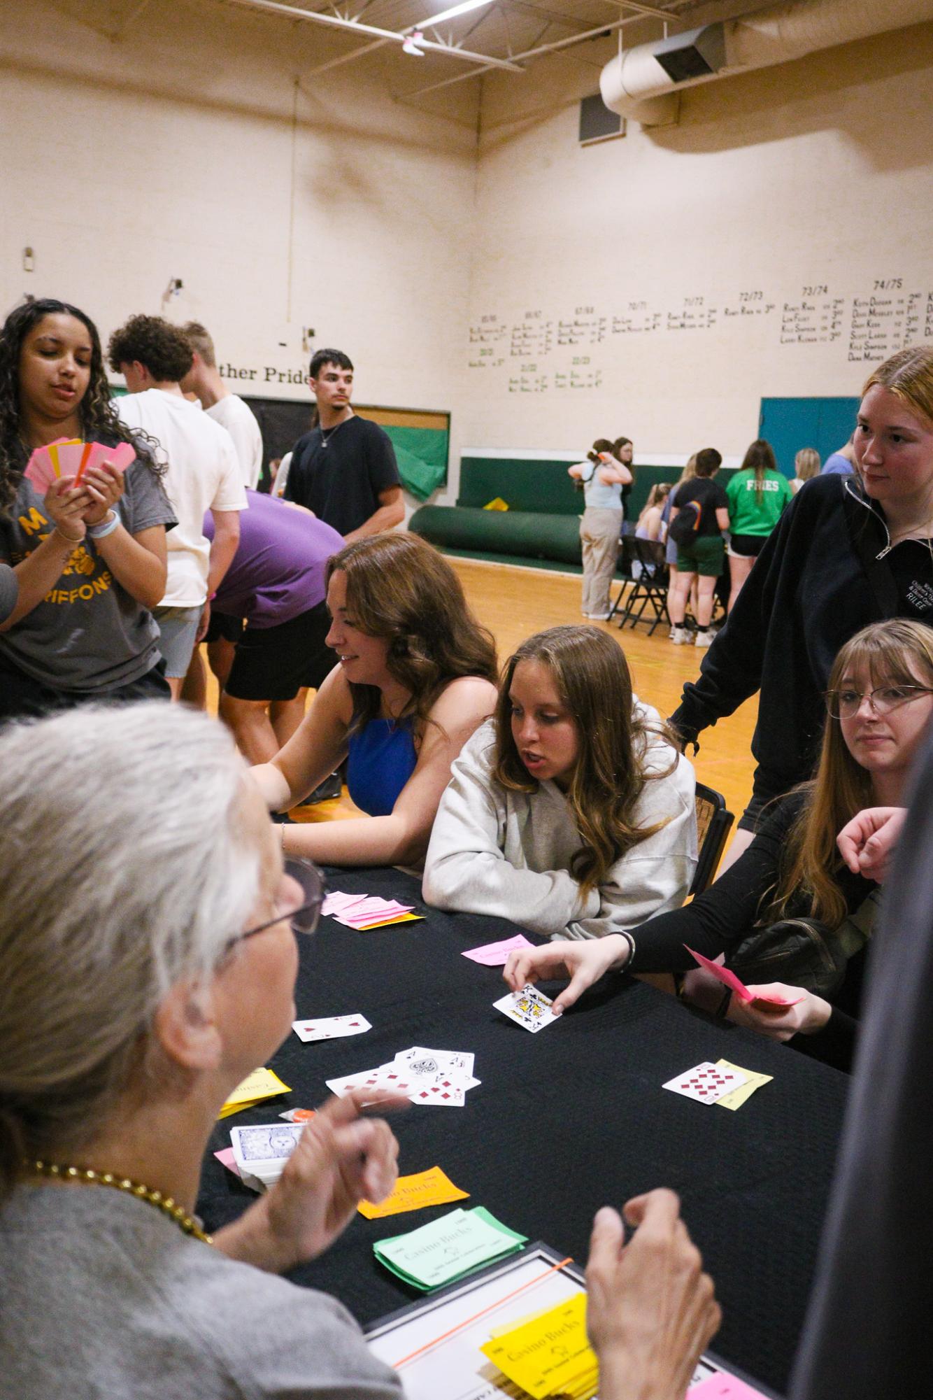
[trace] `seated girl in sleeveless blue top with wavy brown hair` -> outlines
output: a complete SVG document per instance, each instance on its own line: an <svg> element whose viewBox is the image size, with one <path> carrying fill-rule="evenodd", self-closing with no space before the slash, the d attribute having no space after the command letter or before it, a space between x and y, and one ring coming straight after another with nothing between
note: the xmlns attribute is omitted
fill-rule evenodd
<svg viewBox="0 0 933 1400"><path fill-rule="evenodd" d="M298 731L252 770L271 811L347 759L368 815L283 826L323 865L420 865L450 763L495 707L495 645L450 564L417 535L357 540L327 561L330 672Z"/></svg>

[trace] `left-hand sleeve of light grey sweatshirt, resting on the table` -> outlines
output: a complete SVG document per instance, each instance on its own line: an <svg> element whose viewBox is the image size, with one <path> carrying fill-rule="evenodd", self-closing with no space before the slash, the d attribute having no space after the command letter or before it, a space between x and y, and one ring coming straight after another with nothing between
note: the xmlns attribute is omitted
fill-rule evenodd
<svg viewBox="0 0 933 1400"><path fill-rule="evenodd" d="M422 893L436 909L511 918L534 934L565 934L599 913L567 869L519 868L505 858L505 794L492 777L491 725L481 725L450 769L424 865Z"/></svg>

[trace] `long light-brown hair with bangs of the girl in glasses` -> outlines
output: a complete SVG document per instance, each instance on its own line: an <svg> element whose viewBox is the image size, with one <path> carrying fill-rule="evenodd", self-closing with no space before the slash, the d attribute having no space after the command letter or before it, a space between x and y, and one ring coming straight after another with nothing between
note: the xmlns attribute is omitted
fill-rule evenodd
<svg viewBox="0 0 933 1400"><path fill-rule="evenodd" d="M933 686L933 630L906 617L863 627L839 651L829 690L838 690L857 666L867 669L873 686L911 686L918 679ZM816 778L796 791L804 794L803 809L790 829L786 860L762 923L788 917L795 896L803 892L810 897L810 917L838 927L846 904L835 878L842 868L836 834L874 801L871 777L849 753L838 720L827 718Z"/></svg>

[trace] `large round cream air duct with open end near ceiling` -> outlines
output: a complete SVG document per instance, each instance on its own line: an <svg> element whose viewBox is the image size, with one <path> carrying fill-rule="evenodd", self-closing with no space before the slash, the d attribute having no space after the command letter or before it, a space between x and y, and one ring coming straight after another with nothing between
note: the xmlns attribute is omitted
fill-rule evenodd
<svg viewBox="0 0 933 1400"><path fill-rule="evenodd" d="M796 0L628 49L606 64L600 91L611 112L642 126L664 126L677 120L685 87L925 20L933 20L933 0Z"/></svg>

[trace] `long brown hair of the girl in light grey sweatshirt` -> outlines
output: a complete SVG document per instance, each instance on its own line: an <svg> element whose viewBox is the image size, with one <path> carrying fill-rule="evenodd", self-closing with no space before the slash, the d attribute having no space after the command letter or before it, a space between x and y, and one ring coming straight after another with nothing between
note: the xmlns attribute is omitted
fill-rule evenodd
<svg viewBox="0 0 933 1400"><path fill-rule="evenodd" d="M516 792L536 792L539 783L519 757L512 735L509 690L520 661L547 666L574 718L578 755L567 801L583 839L571 871L583 893L596 889L610 868L639 841L659 832L635 825L635 805L645 783L667 777L677 766L674 738L662 724L632 714L632 680L625 654L600 627L548 627L523 641L509 657L499 682L495 707L495 777ZM671 763L660 773L648 771L652 734L671 746Z"/></svg>

